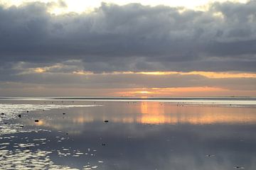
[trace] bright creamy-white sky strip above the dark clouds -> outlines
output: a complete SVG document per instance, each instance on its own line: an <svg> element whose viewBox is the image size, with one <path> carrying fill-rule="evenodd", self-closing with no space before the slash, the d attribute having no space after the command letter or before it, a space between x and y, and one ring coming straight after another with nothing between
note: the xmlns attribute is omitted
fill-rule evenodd
<svg viewBox="0 0 256 170"><path fill-rule="evenodd" d="M0 0L1 4L6 6L16 5L19 6L26 2L34 2L34 1L41 1L45 3L55 2L56 4L66 4L65 8L60 8L60 6L55 6L55 8L51 8L50 12L52 13L65 13L65 12L77 12L81 13L84 11L91 11L93 8L97 8L101 6L102 0L93 0L93 1L86 1L86 0ZM226 0L217 0L218 2L224 2ZM233 0L235 2L246 3L247 0ZM139 3L143 5L149 6L157 6L157 5L166 5L166 6L184 6L186 8L205 8L207 4L213 3L216 1L213 0L105 0L105 3L113 3L119 5L125 5L129 3Z"/></svg>

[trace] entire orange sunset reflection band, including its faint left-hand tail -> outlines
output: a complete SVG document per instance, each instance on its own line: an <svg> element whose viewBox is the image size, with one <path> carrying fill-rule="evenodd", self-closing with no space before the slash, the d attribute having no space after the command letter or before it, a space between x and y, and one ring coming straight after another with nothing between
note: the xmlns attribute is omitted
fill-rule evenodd
<svg viewBox="0 0 256 170"><path fill-rule="evenodd" d="M256 124L256 108L235 108L224 106L185 105L183 103L164 103L155 101L143 102L109 102L104 109L86 112L80 109L80 114L70 114L67 119L40 120L36 125L51 127L57 130L79 131L83 123L110 120L110 123L142 123L142 124ZM27 124L34 124L28 121ZM75 129L78 128L78 129Z"/></svg>

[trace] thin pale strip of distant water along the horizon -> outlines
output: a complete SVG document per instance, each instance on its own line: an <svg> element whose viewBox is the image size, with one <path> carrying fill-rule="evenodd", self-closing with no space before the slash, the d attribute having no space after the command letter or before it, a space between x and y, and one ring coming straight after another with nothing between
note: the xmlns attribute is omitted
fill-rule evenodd
<svg viewBox="0 0 256 170"><path fill-rule="evenodd" d="M256 107L256 98L252 97L172 97L172 98L121 98L121 97L42 97L42 98L1 98L0 101L90 101L90 102L159 102L178 105L210 105L228 107Z"/></svg>

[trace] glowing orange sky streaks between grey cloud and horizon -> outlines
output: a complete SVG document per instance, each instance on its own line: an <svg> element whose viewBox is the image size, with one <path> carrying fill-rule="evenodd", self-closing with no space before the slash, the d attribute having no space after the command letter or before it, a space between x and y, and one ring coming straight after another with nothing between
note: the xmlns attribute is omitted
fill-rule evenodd
<svg viewBox="0 0 256 170"><path fill-rule="evenodd" d="M54 71L65 67L63 64L55 64L49 67L36 67L33 69L25 69L23 74L56 74ZM58 74L62 74L58 72ZM66 73L65 73L66 74ZM172 87L173 84L166 84L164 87L147 87L147 84L143 84L141 81L137 87L138 77L143 77L143 79L149 79L149 81L154 81L156 77L158 80L161 79L176 79L176 77L182 76L199 76L199 81L201 77L206 77L206 79L220 81L220 79L256 79L256 74L251 72L102 72L93 73L83 70L77 70L68 73L74 77L79 77L79 79L105 79L110 77L110 79L116 79L116 81L123 81L124 77L129 77L128 83L134 79L133 88L119 88L112 89L107 96L138 96L138 97L157 97L157 96L255 96L256 91L251 88L251 90L234 91L230 89L229 86L189 86L189 84L184 84L185 86ZM191 78L193 79L193 77ZM196 80L195 80L196 81ZM181 84L183 85L183 84ZM214 85L214 84L213 84ZM235 84L234 84L235 85ZM169 87L170 86L170 87ZM102 93L103 94L103 93Z"/></svg>

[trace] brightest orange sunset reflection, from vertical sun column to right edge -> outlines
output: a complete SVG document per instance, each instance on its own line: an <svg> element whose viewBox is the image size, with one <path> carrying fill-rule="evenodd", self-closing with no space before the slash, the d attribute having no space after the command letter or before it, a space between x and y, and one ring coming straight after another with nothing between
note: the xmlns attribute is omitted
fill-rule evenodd
<svg viewBox="0 0 256 170"><path fill-rule="evenodd" d="M158 102L140 103L137 123L144 124L216 124L256 123L255 108L183 106Z"/></svg>

